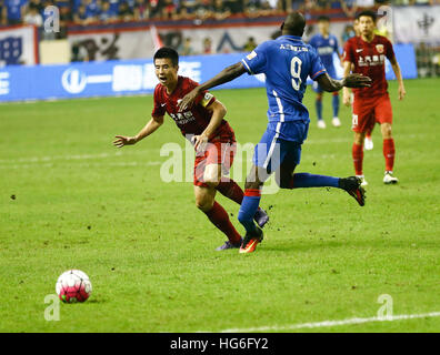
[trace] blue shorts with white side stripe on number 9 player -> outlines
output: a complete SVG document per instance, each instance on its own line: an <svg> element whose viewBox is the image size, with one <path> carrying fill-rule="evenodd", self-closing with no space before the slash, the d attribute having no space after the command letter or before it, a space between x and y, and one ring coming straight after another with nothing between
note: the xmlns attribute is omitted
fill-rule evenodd
<svg viewBox="0 0 440 355"><path fill-rule="evenodd" d="M298 165L301 161L301 145L308 131L308 121L269 123L253 150L253 164L263 168L268 174L274 172L282 163Z"/></svg>

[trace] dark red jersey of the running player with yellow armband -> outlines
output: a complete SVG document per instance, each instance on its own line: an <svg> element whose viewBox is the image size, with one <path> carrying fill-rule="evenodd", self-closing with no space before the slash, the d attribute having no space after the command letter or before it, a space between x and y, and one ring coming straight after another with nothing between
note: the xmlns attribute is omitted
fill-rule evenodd
<svg viewBox="0 0 440 355"><path fill-rule="evenodd" d="M168 94L166 87L160 83L157 84L154 89L154 109L151 115L154 118L163 116L167 112L174 120L184 136L187 134L201 134L212 116L212 112L207 110L207 106L214 102L216 98L208 91L203 91L196 98L192 108L180 111L180 108L177 105L187 93L198 85L196 81L179 75L174 91ZM233 134L233 131L228 122L222 120L220 126L209 139L224 133Z"/></svg>

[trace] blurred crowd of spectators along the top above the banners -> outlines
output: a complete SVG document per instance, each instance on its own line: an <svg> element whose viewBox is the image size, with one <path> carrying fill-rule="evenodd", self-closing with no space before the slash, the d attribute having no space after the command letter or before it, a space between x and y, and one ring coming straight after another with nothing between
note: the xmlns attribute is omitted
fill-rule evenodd
<svg viewBox="0 0 440 355"><path fill-rule="evenodd" d="M377 4L436 4L440 0L0 0L0 24L20 23L41 27L44 9L60 9L62 22L78 24L121 21L223 20L231 16L276 16L293 10L341 9L352 18L359 8Z"/></svg>

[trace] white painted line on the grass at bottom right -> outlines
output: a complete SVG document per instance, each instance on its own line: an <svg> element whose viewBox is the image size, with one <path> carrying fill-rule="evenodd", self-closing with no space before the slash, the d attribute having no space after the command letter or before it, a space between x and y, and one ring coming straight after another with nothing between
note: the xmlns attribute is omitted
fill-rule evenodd
<svg viewBox="0 0 440 355"><path fill-rule="evenodd" d="M258 333L258 332L296 331L303 328L312 329L312 328L321 328L321 327L330 327L330 326L339 326L339 325L354 325L354 324L364 324L364 323L373 323L373 322L396 322L396 321L432 318L432 317L440 317L440 312L430 312L430 313L421 313L421 314L401 314L401 315L384 316L384 317L376 316L369 318L349 318L341 321L322 321L316 323L272 325L272 326L260 326L252 328L231 328L231 329L220 331L219 333L254 333L254 332ZM207 332L199 332L199 333L207 333Z"/></svg>

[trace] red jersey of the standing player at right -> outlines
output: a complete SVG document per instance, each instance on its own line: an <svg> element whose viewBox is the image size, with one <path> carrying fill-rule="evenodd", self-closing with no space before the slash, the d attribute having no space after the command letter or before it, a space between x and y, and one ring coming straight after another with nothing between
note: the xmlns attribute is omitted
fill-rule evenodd
<svg viewBox="0 0 440 355"><path fill-rule="evenodd" d="M343 60L354 64L354 73L370 77L370 88L353 89L358 97L379 97L387 93L386 58L392 60L394 51L391 42L383 36L374 34L369 43L361 37L350 38L343 50Z"/></svg>

